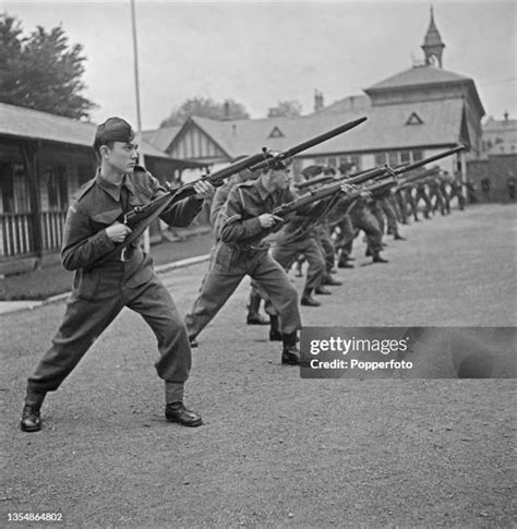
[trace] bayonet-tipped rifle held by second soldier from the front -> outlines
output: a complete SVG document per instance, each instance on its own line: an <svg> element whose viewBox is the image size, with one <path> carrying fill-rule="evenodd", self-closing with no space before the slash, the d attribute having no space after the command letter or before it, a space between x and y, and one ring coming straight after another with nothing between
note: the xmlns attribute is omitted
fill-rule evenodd
<svg viewBox="0 0 517 529"><path fill-rule="evenodd" d="M346 194L346 199L347 201L359 199L359 196L364 192L368 192L372 195L382 194L388 189L398 184L400 180L399 178L400 175L408 172L410 170L413 170L416 168L422 167L425 164L429 164L431 161L436 161L441 158L445 158L453 154L459 153L464 148L465 148L464 145L459 145L455 148L452 148L450 151L438 153L436 155L430 156L429 158L424 158L413 164L406 164L402 166L398 166L394 169L387 165L378 169L371 169L370 171L363 172L362 176L365 176L368 172L370 172L371 175L375 175L376 178L370 177L370 179L373 180L373 182L370 183L369 185L364 185L362 189L356 189L353 192ZM378 177L382 177L382 178L378 178ZM353 179L350 179L350 180L353 180ZM309 193L305 193L304 195L299 196L298 199L291 202L281 204L267 213L270 213L277 217L285 217L286 215L290 213L294 213L298 209L301 209L302 207L308 206L309 204L312 204L313 202L317 202L328 196L336 195L337 193L341 193L341 185L344 182L351 183L351 184L357 183L354 181L340 179L335 183L332 183L328 185L322 185L316 190L312 190Z"/></svg>

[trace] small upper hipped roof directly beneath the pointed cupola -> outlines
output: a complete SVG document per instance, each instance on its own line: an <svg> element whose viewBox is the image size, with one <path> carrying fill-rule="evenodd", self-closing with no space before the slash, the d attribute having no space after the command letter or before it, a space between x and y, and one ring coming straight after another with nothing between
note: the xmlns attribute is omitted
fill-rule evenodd
<svg viewBox="0 0 517 529"><path fill-rule="evenodd" d="M466 77L458 73L449 72L441 68L431 65L412 67L409 70L397 73L380 83L368 87L364 92L377 92L393 88L408 88L414 86L435 85L444 83L466 83L472 82L470 77Z"/></svg>

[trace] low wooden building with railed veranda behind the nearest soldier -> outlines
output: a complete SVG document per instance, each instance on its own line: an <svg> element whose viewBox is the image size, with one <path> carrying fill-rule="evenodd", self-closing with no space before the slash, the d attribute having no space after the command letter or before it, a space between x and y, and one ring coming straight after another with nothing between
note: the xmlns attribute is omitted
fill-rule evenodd
<svg viewBox="0 0 517 529"><path fill-rule="evenodd" d="M0 274L55 262L71 195L95 175L96 125L0 104ZM146 167L163 180L192 161L142 142Z"/></svg>

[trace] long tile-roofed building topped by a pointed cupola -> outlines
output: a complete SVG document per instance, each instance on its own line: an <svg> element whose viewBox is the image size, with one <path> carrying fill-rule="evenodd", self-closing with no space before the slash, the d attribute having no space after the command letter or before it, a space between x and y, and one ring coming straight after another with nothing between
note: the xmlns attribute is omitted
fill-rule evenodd
<svg viewBox="0 0 517 529"><path fill-rule="evenodd" d="M297 155L294 178L312 164L351 163L359 169L398 165L461 143L467 153L438 165L466 180L467 161L481 154L484 108L472 79L443 68L444 48L431 9L423 62L365 88L364 94L325 106L316 91L314 112L297 118L214 121L194 117L179 131L164 132L160 147L172 157L221 164L263 146L284 151L365 116L368 121L359 128Z"/></svg>

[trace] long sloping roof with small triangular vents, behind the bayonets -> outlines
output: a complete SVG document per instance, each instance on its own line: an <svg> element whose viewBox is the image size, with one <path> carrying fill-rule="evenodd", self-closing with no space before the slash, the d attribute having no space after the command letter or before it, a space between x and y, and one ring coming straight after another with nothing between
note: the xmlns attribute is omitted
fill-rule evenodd
<svg viewBox="0 0 517 529"><path fill-rule="evenodd" d="M422 120L422 124L406 124L413 112ZM237 121L192 118L192 122L219 145L229 158L233 158L257 153L263 146L272 151L286 151L363 116L368 117L368 121L361 125L304 151L301 156L456 145L460 141L464 100L457 98L387 105L371 107L366 111L315 113L298 118ZM275 128L284 136L269 137ZM176 141L181 141L181 135Z"/></svg>

